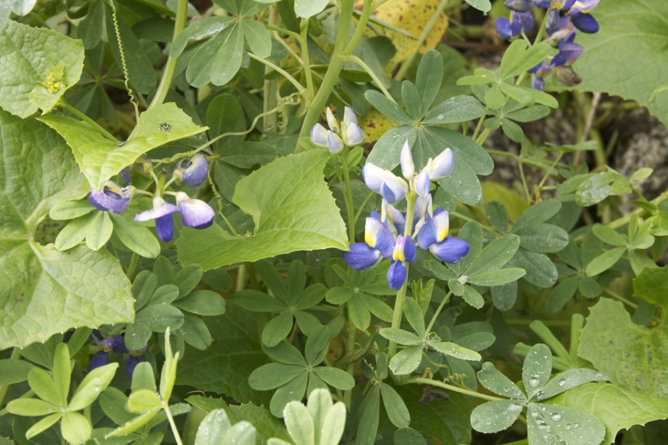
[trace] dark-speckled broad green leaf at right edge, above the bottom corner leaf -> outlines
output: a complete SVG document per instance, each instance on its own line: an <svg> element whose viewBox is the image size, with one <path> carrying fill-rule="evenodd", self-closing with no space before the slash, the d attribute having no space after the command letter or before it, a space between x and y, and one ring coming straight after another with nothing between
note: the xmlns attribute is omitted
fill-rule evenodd
<svg viewBox="0 0 668 445"><path fill-rule="evenodd" d="M578 355L589 360L617 387L639 394L668 394L665 327L636 325L621 302L601 298L589 309Z"/></svg>

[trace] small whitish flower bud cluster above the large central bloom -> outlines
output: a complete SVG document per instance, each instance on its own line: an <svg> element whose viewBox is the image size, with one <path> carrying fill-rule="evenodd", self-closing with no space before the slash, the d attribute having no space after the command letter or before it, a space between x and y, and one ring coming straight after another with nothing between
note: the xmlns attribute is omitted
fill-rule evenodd
<svg viewBox="0 0 668 445"><path fill-rule="evenodd" d="M347 106L343 120L337 121L331 109L327 107L326 129L321 124L315 124L311 129L311 142L318 147L329 149L331 154L339 154L344 146L355 147L364 142L364 131L357 124L357 117L353 108Z"/></svg>

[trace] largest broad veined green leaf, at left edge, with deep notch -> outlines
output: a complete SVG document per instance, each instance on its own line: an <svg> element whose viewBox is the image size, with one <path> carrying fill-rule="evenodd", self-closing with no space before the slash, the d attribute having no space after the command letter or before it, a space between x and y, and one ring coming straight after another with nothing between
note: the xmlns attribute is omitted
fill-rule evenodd
<svg viewBox="0 0 668 445"><path fill-rule="evenodd" d="M38 221L56 202L86 194L70 149L32 119L0 111L0 127L0 171L22 172L6 175L0 186L0 287L6 289L0 296L0 348L45 341L71 327L132 321L130 283L109 252L84 246L58 252L32 241ZM33 178L33 186L25 186L23 175ZM15 286L11 277L19 276L26 281Z"/></svg>

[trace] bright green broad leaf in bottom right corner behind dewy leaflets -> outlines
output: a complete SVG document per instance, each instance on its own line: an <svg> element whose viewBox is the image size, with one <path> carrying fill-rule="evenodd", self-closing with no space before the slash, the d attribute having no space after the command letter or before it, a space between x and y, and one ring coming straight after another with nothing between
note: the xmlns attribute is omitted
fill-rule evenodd
<svg viewBox="0 0 668 445"><path fill-rule="evenodd" d="M581 385L559 394L550 402L588 412L601 419L605 425L603 445L612 444L619 430L668 416L668 401L665 398L638 394L605 383ZM578 423L584 426L584 423Z"/></svg>

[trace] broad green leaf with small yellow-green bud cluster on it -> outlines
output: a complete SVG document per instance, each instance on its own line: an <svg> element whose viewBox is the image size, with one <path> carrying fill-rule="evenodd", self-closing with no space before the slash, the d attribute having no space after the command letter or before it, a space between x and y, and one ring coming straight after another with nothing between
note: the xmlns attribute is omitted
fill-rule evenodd
<svg viewBox="0 0 668 445"><path fill-rule="evenodd" d="M9 20L0 31L0 58L0 106L27 118L38 108L49 113L79 81L84 44L51 29Z"/></svg>

